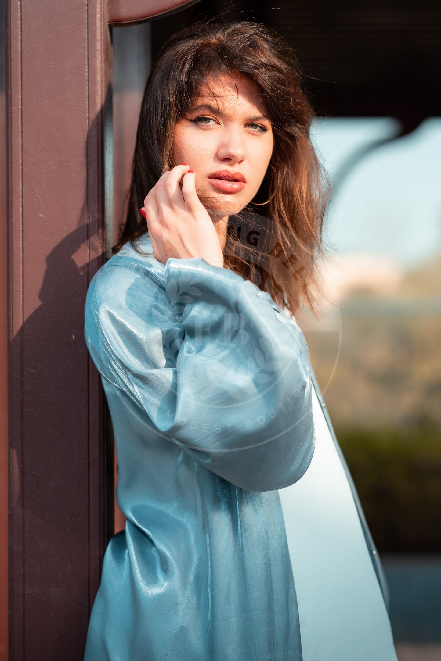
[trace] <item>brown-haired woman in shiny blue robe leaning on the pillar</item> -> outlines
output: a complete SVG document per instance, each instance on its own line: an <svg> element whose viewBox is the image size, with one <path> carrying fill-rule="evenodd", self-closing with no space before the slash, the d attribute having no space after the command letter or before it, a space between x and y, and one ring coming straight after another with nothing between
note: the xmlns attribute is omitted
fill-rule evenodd
<svg viewBox="0 0 441 661"><path fill-rule="evenodd" d="M126 227L86 304L127 518L86 661L396 658L290 318L313 306L321 248L311 117L292 54L258 24L198 24L153 65Z"/></svg>

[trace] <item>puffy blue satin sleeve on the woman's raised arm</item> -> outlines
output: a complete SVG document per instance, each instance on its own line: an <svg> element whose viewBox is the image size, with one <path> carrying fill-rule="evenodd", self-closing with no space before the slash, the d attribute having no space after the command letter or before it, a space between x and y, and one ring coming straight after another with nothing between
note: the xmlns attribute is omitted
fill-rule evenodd
<svg viewBox="0 0 441 661"><path fill-rule="evenodd" d="M315 444L298 325L268 293L202 258L169 259L165 292L142 268L110 262L87 295L87 345L145 434L153 423L164 442L247 490L298 481Z"/></svg>

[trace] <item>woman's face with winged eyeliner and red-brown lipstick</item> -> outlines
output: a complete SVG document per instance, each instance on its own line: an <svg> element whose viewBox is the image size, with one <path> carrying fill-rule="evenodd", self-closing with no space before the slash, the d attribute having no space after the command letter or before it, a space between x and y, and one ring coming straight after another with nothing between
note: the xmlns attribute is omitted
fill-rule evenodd
<svg viewBox="0 0 441 661"><path fill-rule="evenodd" d="M227 74L210 77L173 134L174 165L190 165L202 204L219 218L253 200L274 144L257 86L240 74L234 79L237 90Z"/></svg>

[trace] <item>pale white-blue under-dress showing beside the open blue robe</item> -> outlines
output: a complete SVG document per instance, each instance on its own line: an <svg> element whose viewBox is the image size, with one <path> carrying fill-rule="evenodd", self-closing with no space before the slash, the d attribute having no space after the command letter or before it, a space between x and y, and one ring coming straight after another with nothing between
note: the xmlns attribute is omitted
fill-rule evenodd
<svg viewBox="0 0 441 661"><path fill-rule="evenodd" d="M311 464L279 490L303 661L397 661L352 491L314 388L313 418Z"/></svg>

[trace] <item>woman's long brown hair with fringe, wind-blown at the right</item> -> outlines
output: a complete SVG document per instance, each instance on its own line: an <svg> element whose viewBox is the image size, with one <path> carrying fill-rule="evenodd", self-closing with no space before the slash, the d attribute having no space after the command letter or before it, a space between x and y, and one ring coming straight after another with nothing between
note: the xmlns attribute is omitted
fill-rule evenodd
<svg viewBox="0 0 441 661"><path fill-rule="evenodd" d="M198 22L165 42L141 104L126 225L113 249L147 232L140 207L170 170L173 130L210 75L239 73L255 82L272 123L274 150L255 200L229 217L224 263L269 292L290 313L317 293L328 186L309 130L313 110L298 61L284 40L254 22ZM259 214L257 211L259 210Z"/></svg>

